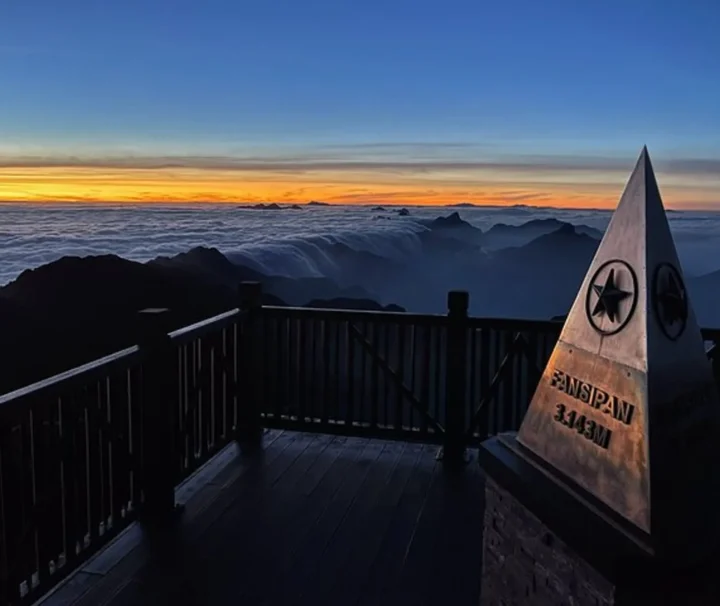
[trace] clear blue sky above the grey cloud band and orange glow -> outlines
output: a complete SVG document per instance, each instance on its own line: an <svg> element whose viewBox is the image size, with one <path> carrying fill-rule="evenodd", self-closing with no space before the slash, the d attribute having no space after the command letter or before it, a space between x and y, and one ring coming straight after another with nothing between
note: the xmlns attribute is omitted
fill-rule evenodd
<svg viewBox="0 0 720 606"><path fill-rule="evenodd" d="M0 153L720 159L719 32L717 0L4 0Z"/></svg>

